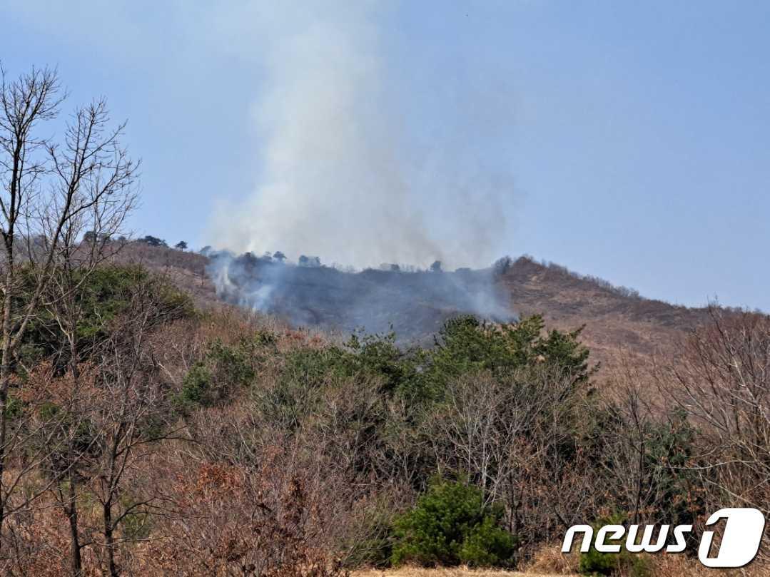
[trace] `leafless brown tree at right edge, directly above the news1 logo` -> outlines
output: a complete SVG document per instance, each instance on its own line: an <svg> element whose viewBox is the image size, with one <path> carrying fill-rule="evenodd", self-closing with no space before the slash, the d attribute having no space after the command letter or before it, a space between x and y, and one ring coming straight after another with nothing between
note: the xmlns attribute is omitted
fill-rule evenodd
<svg viewBox="0 0 770 577"><path fill-rule="evenodd" d="M661 392L698 425L691 469L715 505L770 511L770 317L710 307L711 322L658 369Z"/></svg>

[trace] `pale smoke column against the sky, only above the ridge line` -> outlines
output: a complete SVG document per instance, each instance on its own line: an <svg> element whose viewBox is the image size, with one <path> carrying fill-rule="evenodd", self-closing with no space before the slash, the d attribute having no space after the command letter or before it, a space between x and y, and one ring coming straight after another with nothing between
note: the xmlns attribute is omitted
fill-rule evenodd
<svg viewBox="0 0 770 577"><path fill-rule="evenodd" d="M212 244L359 268L434 259L489 265L504 253L512 179L485 165L488 123L474 115L487 103L474 102L474 88L426 142L410 122L410 91L440 95L444 87L404 86L394 76L380 6L275 11L260 11L269 21L254 32L264 42L255 108L260 184L245 202L219 211ZM442 138L453 131L455 138Z"/></svg>

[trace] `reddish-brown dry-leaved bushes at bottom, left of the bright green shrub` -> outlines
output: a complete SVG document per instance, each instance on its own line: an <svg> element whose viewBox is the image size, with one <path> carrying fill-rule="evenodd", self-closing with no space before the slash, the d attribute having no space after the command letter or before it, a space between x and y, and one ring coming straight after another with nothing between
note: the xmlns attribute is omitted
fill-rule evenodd
<svg viewBox="0 0 770 577"><path fill-rule="evenodd" d="M282 478L280 487L276 476ZM149 545L146 570L191 577L343 574L340 561L316 545L324 527L306 480L284 476L276 470L256 477L216 464L179 475L174 487L179 515L166 519L165 538Z"/></svg>

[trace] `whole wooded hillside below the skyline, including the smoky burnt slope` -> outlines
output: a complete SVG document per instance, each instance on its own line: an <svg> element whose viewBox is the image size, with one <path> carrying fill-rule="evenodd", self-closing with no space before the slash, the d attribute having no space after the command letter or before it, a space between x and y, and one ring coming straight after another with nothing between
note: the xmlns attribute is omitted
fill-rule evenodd
<svg viewBox="0 0 770 577"><path fill-rule="evenodd" d="M18 574L62 575L68 560L78 559L66 553L73 503L78 515L69 518L76 527L69 539L96 535L80 548L89 567L225 575L272 563L290 566L286 575L310 566L328 569L316 573L328 577L371 567L389 570L353 575L524 577L604 567L608 559L561 555L559 544L565 529L606 510L648 524L681 515L676 519L702 526L711 511L738 499L767 502L766 482L747 484L755 470L767 479L762 454L732 459L731 452L766 446L758 435L768 429L742 427L735 435L748 441L733 441L732 433L699 427L704 417L686 412L687 395L696 394L705 399L696 409L715 407L707 419L731 402L743 411L741 422L755 419L755 407L765 410L766 399L745 393L768 390L765 315L715 315L689 348L670 349L676 358L663 355L653 373L644 366L650 353L704 321L705 311L641 299L531 258L477 271L348 273L249 256L243 278L228 275L222 284L222 263L216 269L202 255L138 243L120 248L115 261L143 268L106 267L87 278L72 305L84 311L81 348L73 354L62 346L68 325L49 320L29 332L22 349L24 378L12 392L24 404L14 419L30 433L8 460L11 480L22 488L15 498L25 516L18 522L27 524L12 534L22 551L13 561L24 567ZM463 299L479 291L545 319L523 316L506 330L459 319L444 326L441 347L404 350L377 338L340 345L323 330L293 329L226 305L216 282L253 298L272 286L274 303L311 307L328 324L349 320L336 316L346 307L387 296L375 303L377 315L396 307L396 329L423 339L432 327L420 315L464 312L478 302ZM583 324L580 339L559 329ZM640 361L638 375L616 381L604 370L589 381L581 342L610 369L620 366L617 349L626 349ZM700 388L704 363L719 372L716 387ZM747 370L737 375L736 363ZM82 372L69 372L72 365ZM646 386L645 377L661 388ZM670 392L666 406L673 399L678 412L657 410L661 391ZM735 402L736 395L745 396ZM39 422L52 435L43 445ZM714 447L725 449L708 460ZM31 450L43 451L37 469L24 465ZM114 455L121 455L117 469ZM693 468L679 473L671 462ZM22 501L45 479L61 479L62 467L68 476L60 486L72 487L75 497L47 490ZM113 470L116 489L105 494L102 480ZM742 494L725 502L724 492L708 492L715 483L735 483L730 490ZM644 486L651 490L640 500ZM494 495L494 506L485 505L485 495ZM697 508L680 509L689 495L705 496ZM99 499L102 506L89 505ZM96 539L115 529L120 543L108 549L112 561L103 561ZM41 554L49 535L55 545ZM463 545L434 552L436 542ZM696 575L687 559L633 563L649 575ZM631 566L630 559L610 561ZM412 569L437 564L457 569ZM519 572L468 572L463 565Z"/></svg>

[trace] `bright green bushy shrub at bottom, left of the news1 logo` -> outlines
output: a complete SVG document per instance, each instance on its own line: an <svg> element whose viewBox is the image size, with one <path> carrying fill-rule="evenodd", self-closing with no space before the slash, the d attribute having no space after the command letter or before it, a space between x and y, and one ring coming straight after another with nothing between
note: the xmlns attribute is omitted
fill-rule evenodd
<svg viewBox="0 0 770 577"><path fill-rule="evenodd" d="M393 565L511 565L513 536L499 526L502 510L462 482L434 482L395 526Z"/></svg>

